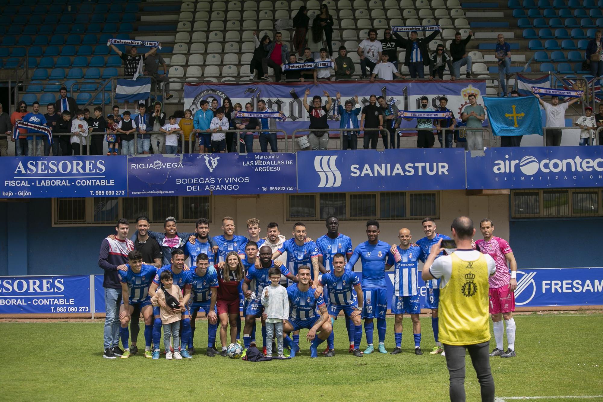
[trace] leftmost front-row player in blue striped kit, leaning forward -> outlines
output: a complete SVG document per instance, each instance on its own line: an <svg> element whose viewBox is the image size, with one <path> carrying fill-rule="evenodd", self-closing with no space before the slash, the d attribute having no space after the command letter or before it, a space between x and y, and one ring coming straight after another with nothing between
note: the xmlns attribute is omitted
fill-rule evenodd
<svg viewBox="0 0 603 402"><path fill-rule="evenodd" d="M130 316L134 311L134 306L142 312L145 320L145 357L151 359L151 340L153 340L153 307L151 307L151 296L149 296L149 287L157 275L157 267L142 263L142 253L137 250L130 251L128 254L128 270L119 271L119 282L121 283L122 305L119 307L119 336L124 345L124 354L122 359L130 357L130 348L128 347L128 323ZM136 316L138 319L138 316Z"/></svg>

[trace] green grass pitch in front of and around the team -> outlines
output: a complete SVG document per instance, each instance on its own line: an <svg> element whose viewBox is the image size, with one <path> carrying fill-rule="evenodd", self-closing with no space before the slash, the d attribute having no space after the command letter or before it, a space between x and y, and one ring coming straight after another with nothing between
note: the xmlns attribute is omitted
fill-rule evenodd
<svg viewBox="0 0 603 402"><path fill-rule="evenodd" d="M602 314L530 314L515 320L517 357L490 360L497 397L603 395ZM393 318L387 324L385 345L391 351ZM335 322L335 357L310 359L302 330L301 352L295 359L251 363L206 357L205 321L197 322L197 353L192 360L179 361L167 361L163 355L160 360L145 359L142 352L127 360L103 359L102 320L3 322L0 400L445 401L445 358L429 354L434 346L430 319L422 318L421 325L423 356L413 353L411 321L405 317L404 353L353 357L347 353L340 317ZM374 335L376 341L376 330ZM144 346L142 330L140 345ZM466 390L467 401L479 400L469 355Z"/></svg>

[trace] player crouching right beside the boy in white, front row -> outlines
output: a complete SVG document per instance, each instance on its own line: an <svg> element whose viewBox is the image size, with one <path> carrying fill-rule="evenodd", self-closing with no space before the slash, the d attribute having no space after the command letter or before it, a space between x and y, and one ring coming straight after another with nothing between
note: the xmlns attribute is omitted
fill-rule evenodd
<svg viewBox="0 0 603 402"><path fill-rule="evenodd" d="M310 357L318 357L318 345L329 337L333 327L323 296L316 296L314 290L310 287L311 272L308 266L297 267L298 283L294 283L287 288L289 320L283 321L283 333L298 332L301 328L307 328L309 331L306 339L308 342L312 342ZM317 308L320 315L316 313ZM295 357L300 349L299 346L289 336L285 336L285 345L291 346L291 357Z"/></svg>

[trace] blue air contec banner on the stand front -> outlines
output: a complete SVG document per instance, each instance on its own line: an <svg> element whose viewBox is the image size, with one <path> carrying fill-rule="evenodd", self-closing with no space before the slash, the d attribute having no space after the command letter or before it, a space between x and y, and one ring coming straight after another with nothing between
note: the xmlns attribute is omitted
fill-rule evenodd
<svg viewBox="0 0 603 402"><path fill-rule="evenodd" d="M602 147L489 148L467 152L467 188L572 188L603 185Z"/></svg>

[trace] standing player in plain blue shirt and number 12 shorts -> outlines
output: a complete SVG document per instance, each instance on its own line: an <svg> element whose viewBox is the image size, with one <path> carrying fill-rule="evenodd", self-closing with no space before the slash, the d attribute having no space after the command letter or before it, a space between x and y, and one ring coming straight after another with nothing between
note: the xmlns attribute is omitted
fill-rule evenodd
<svg viewBox="0 0 603 402"><path fill-rule="evenodd" d="M390 244L379 240L379 222L374 219L367 221L368 241L358 244L354 249L352 258L347 263L346 269L352 270L360 258L362 263L362 295L364 296L364 331L367 334L366 354L374 352L373 347L373 319L377 317L377 332L379 334L379 353L387 353L385 350L385 312L387 311L387 284L385 283L385 270L391 266L385 266L387 258L393 260ZM360 345L354 345L359 350ZM356 354L356 352L354 353Z"/></svg>

